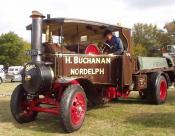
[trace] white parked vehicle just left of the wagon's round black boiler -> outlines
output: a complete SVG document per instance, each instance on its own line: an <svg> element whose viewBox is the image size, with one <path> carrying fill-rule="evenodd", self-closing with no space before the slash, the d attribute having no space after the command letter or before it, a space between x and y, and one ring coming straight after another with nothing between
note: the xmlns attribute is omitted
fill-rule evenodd
<svg viewBox="0 0 175 136"><path fill-rule="evenodd" d="M23 69L23 66L11 66L8 68L8 73L6 78L10 80L11 82L15 81L21 81L21 71Z"/></svg>

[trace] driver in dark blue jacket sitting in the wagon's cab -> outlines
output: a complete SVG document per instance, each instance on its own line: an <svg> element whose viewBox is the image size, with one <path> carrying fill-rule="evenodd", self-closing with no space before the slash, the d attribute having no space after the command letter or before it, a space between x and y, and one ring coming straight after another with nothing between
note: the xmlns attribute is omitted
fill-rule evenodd
<svg viewBox="0 0 175 136"><path fill-rule="evenodd" d="M110 46L110 53L115 55L123 54L123 43L119 37L113 35L112 32L108 29L104 31L103 36L106 39L106 43Z"/></svg>

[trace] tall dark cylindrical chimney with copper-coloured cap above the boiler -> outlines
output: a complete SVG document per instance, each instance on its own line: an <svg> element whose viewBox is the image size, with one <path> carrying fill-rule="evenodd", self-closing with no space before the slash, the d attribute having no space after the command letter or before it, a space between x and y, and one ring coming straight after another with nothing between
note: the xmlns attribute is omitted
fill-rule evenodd
<svg viewBox="0 0 175 136"><path fill-rule="evenodd" d="M32 44L32 62L41 62L42 55L42 22L44 16L38 11L32 11L32 31L31 31L31 44Z"/></svg>

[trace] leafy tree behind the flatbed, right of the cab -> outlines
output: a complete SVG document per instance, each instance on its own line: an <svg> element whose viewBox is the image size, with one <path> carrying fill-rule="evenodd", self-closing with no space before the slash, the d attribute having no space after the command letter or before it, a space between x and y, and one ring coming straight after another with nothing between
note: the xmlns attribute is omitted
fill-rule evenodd
<svg viewBox="0 0 175 136"><path fill-rule="evenodd" d="M162 46L171 41L168 33L159 30L156 25L142 23L134 25L132 40L133 53L141 56L160 56Z"/></svg>

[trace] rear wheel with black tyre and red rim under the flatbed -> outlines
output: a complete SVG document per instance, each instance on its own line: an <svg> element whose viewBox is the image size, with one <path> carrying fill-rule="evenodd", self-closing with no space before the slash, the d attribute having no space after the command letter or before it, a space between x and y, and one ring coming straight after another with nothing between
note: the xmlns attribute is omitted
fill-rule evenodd
<svg viewBox="0 0 175 136"><path fill-rule="evenodd" d="M151 76L149 91L150 100L155 104L165 103L167 98L167 81L163 75L154 73Z"/></svg>

